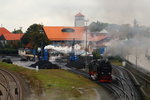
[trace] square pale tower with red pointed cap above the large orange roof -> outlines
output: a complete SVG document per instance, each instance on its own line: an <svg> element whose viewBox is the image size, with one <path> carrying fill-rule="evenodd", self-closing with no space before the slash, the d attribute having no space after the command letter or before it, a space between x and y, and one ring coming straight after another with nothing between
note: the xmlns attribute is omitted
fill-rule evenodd
<svg viewBox="0 0 150 100"><path fill-rule="evenodd" d="M74 26L75 27L84 27L85 26L85 20L84 20L84 15L81 13L78 13L75 15L75 22Z"/></svg>

